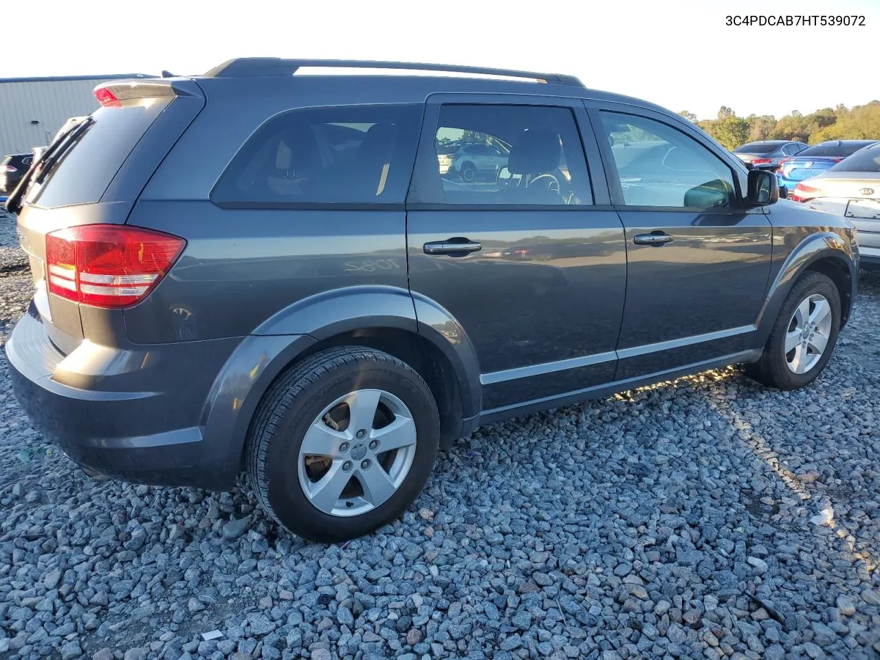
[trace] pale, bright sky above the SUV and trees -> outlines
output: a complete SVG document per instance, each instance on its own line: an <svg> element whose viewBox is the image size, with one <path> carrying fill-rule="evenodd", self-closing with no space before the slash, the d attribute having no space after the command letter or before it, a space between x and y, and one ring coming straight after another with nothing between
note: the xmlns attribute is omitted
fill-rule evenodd
<svg viewBox="0 0 880 660"><path fill-rule="evenodd" d="M0 77L192 74L270 55L572 73L700 119L722 105L781 116L880 97L880 0L5 4L0 26L23 44L0 58ZM725 25L744 14L862 15L866 26Z"/></svg>

